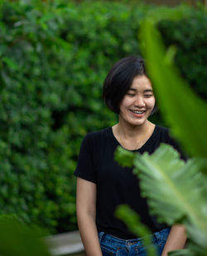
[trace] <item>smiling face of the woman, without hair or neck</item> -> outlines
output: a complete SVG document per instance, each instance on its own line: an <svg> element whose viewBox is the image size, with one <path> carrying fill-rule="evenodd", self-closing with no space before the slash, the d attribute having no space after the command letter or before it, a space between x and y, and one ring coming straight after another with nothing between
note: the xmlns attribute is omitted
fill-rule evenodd
<svg viewBox="0 0 207 256"><path fill-rule="evenodd" d="M119 106L119 121L132 126L142 126L155 106L151 81L147 76L135 76L132 85Z"/></svg>

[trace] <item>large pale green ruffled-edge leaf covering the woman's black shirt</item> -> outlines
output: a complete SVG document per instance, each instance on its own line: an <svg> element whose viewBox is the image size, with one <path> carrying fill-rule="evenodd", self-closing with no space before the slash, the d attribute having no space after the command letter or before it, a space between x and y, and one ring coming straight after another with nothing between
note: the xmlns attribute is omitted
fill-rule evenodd
<svg viewBox="0 0 207 256"><path fill-rule="evenodd" d="M152 155L137 154L134 165L152 214L170 225L185 219L186 228L197 233L194 241L207 244L207 180L199 171L199 160L185 163L171 145L161 144Z"/></svg>

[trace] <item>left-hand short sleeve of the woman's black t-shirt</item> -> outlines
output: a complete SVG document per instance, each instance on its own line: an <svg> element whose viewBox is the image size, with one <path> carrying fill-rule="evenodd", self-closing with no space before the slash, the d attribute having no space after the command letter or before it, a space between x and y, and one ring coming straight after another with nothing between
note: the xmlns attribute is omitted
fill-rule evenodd
<svg viewBox="0 0 207 256"><path fill-rule="evenodd" d="M78 164L74 175L96 183L93 159L93 143L89 135L84 137L79 150Z"/></svg>

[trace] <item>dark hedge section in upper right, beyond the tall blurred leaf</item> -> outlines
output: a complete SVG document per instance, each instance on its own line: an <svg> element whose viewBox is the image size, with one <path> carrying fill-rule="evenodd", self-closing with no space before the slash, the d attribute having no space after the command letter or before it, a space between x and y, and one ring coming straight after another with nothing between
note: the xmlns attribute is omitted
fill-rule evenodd
<svg viewBox="0 0 207 256"><path fill-rule="evenodd" d="M190 12L189 16L171 22L161 21L158 24L163 42L166 47L176 46L175 62L188 84L205 100L207 91L205 81L207 80L207 14L206 10Z"/></svg>

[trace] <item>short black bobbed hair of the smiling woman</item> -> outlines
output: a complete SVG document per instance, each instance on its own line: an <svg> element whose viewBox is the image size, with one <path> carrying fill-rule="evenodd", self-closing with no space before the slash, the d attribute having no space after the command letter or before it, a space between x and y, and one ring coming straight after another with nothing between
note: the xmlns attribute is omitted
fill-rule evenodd
<svg viewBox="0 0 207 256"><path fill-rule="evenodd" d="M147 76L142 57L124 57L114 64L103 83L103 100L110 110L119 113L119 106L135 76ZM147 76L148 77L148 76ZM152 114L156 111L154 107Z"/></svg>

